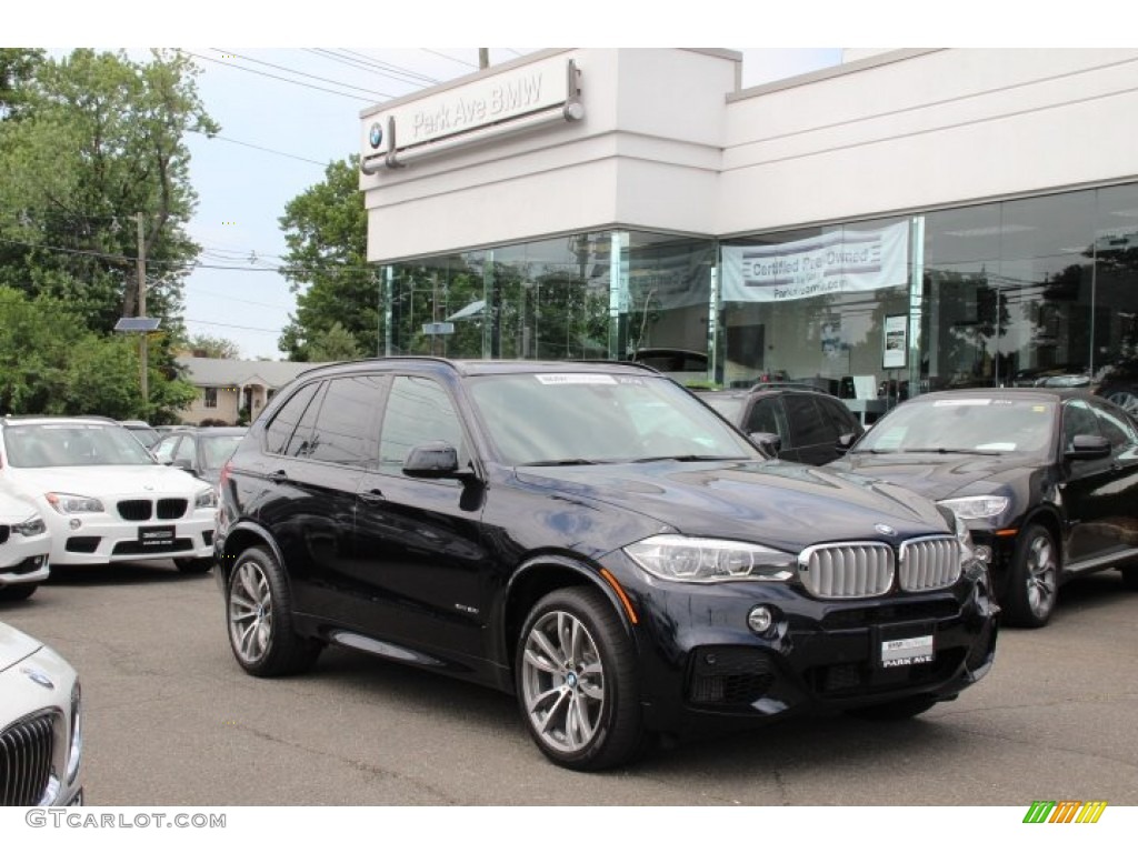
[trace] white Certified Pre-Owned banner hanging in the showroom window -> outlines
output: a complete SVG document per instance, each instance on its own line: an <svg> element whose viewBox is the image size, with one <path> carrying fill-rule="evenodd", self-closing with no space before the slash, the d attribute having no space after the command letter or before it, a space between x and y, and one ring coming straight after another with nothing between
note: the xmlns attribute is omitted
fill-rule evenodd
<svg viewBox="0 0 1138 853"><path fill-rule="evenodd" d="M909 224L777 246L724 246L723 299L783 303L908 282Z"/></svg>

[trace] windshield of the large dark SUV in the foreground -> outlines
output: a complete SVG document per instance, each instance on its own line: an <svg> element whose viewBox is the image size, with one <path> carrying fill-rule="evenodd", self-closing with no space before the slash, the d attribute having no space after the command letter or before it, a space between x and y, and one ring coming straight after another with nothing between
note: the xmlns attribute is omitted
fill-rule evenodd
<svg viewBox="0 0 1138 853"><path fill-rule="evenodd" d="M762 458L674 382L603 373L479 376L470 394L503 462Z"/></svg>

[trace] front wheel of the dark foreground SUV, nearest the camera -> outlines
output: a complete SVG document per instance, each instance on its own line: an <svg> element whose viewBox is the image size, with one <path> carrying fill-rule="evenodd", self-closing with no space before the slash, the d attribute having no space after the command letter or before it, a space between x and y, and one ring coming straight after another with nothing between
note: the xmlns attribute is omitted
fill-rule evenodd
<svg viewBox="0 0 1138 853"><path fill-rule="evenodd" d="M597 590L559 589L534 605L518 640L514 679L522 720L554 764L604 770L641 752L633 641Z"/></svg>

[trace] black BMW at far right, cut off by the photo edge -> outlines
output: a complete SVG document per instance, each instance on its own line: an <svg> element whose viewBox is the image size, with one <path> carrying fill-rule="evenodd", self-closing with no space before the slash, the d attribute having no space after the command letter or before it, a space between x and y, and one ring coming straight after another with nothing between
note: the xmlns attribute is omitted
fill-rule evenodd
<svg viewBox="0 0 1138 853"><path fill-rule="evenodd" d="M991 550L1008 624L1047 623L1063 581L1138 588L1138 422L1077 388L972 388L902 403L827 470L950 507Z"/></svg>

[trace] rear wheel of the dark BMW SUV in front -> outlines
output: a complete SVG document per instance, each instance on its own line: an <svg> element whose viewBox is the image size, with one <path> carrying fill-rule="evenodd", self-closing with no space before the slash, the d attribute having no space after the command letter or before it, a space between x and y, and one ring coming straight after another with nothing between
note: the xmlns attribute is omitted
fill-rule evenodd
<svg viewBox="0 0 1138 853"><path fill-rule="evenodd" d="M265 548L248 548L233 563L225 583L225 619L233 656L251 676L303 672L323 647L294 630L288 579Z"/></svg>

